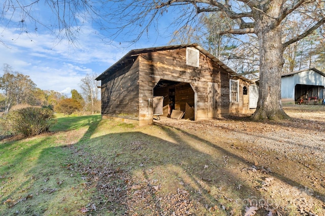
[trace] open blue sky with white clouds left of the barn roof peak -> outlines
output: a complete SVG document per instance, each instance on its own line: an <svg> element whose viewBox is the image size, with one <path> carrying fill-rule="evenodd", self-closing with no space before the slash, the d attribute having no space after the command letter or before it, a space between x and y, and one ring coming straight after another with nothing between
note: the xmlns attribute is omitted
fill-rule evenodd
<svg viewBox="0 0 325 216"><path fill-rule="evenodd" d="M19 20L20 17L13 17L9 26L5 26L8 20L0 20L0 39L5 44L0 44L0 75L3 75L3 65L9 64L15 71L30 76L38 88L68 96L72 89L80 91L80 80L87 73L99 75L132 49L164 46L170 40L161 35L163 30L152 31L132 45L121 41L105 43L103 35L98 33L100 30L85 23L76 46L72 46L67 39L58 43L51 32L42 29L21 33ZM165 31L166 20L169 19L160 22Z"/></svg>

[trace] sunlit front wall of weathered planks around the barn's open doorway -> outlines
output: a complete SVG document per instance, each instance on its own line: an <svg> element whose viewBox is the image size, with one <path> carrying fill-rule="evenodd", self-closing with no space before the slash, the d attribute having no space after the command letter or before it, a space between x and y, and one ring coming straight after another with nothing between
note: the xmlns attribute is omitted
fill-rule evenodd
<svg viewBox="0 0 325 216"><path fill-rule="evenodd" d="M160 79L173 80L178 82L190 83L195 98L195 116L196 120L200 118L207 118L208 116L215 116L217 112L213 111L210 115L208 110L215 109L217 103L208 103L208 82L217 83L215 92L220 92L220 72L227 74L228 80L228 94L229 94L229 79L228 73L224 71L210 58L200 53L200 67L192 67L186 65L186 49L158 51L140 55L140 69L139 69L139 83L140 83L140 119L152 118L152 110L149 106L148 100L152 97L152 90ZM228 97L229 98L229 97ZM219 99L220 100L220 99ZM141 101L143 103L141 103ZM211 100L210 100L211 101ZM146 103L145 103L146 102ZM228 100L229 104L229 100ZM209 108L213 106L213 108Z"/></svg>

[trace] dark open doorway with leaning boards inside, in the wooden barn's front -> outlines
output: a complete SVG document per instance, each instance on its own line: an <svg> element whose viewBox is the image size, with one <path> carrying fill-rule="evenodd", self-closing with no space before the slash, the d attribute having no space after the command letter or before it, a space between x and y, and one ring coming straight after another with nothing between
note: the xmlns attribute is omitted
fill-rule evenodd
<svg viewBox="0 0 325 216"><path fill-rule="evenodd" d="M157 96L164 97L161 116L195 119L195 93L190 83L160 79L153 89L153 97Z"/></svg>

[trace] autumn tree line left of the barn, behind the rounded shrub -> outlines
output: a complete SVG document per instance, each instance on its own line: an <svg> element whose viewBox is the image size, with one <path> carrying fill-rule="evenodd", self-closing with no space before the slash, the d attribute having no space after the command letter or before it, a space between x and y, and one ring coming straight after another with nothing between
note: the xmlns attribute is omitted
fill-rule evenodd
<svg viewBox="0 0 325 216"><path fill-rule="evenodd" d="M68 98L53 90L37 88L28 75L14 71L8 64L4 64L3 72L0 77L0 112L8 113L11 108L24 105L46 107L69 115L74 112L101 112L100 89L97 88L95 74L82 78L79 83L81 93L72 90L71 98Z"/></svg>

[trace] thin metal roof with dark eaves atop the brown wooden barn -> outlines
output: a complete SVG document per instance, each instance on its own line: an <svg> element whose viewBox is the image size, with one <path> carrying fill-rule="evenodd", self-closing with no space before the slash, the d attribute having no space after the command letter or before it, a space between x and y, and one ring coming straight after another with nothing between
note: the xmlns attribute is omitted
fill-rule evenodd
<svg viewBox="0 0 325 216"><path fill-rule="evenodd" d="M142 53L150 53L150 52L165 51L165 50L176 50L176 49L186 48L186 47L194 47L194 48L198 49L202 54L209 57L212 61L214 61L215 63L220 65L225 71L227 71L231 75L236 75L237 77L239 77L240 79L242 79L246 82L253 83L253 81L251 81L250 79L247 79L246 77L239 75L238 73L236 73L235 71L230 69L228 66L223 64L219 59L214 57L211 53L209 53L208 51L206 51L205 49L200 47L198 44L171 45L171 46L164 46L164 47L153 47L153 48L131 50L125 56L123 56L120 60L118 60L116 63L114 63L108 69L106 69L101 75L99 75L96 78L96 80L102 80L105 75L109 74L111 71L114 71L114 68L119 67L126 61L134 60L135 56L138 56Z"/></svg>

